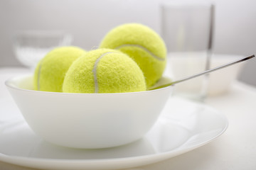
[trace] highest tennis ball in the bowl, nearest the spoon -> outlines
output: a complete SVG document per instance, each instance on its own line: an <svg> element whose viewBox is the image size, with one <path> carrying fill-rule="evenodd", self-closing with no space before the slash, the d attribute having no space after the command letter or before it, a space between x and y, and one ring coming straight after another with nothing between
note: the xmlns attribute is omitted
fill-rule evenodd
<svg viewBox="0 0 256 170"><path fill-rule="evenodd" d="M158 81L166 67L166 45L151 28L139 23L126 23L110 30L100 43L132 57L142 69L149 88Z"/></svg>

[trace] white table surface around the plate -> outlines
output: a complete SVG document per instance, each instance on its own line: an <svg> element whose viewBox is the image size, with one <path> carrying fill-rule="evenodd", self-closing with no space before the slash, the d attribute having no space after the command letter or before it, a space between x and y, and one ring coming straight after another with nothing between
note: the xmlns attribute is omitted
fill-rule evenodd
<svg viewBox="0 0 256 170"><path fill-rule="evenodd" d="M0 68L0 100L11 98L4 81L26 72L21 68ZM256 88L235 82L227 94L209 97L205 103L227 116L229 127L223 135L186 154L134 170L256 169ZM4 162L0 162L0 169L32 170Z"/></svg>

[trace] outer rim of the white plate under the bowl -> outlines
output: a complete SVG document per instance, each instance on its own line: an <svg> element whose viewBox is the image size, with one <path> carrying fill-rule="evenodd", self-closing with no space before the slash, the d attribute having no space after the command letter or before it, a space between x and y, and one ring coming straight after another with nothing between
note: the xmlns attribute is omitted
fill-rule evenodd
<svg viewBox="0 0 256 170"><path fill-rule="evenodd" d="M172 97L173 98L173 97ZM184 100L184 99L183 99ZM3 154L0 152L0 161L6 162L9 164L14 164L18 166L26 166L30 168L40 168L40 169L119 169L122 167L123 169L127 168L133 168L136 166L145 166L147 164L154 164L156 162L164 161L166 159L171 159L172 157L176 157L180 154L184 154L186 152L190 152L193 149L196 149L198 147L201 147L203 145L208 144L209 142L212 142L216 138L218 138L220 135L222 135L225 130L228 128L228 118L218 111L217 109L206 105L205 103L199 103L196 101L188 101L184 100L186 102L193 103L193 105L196 106L203 106L203 108L206 108L207 110L214 113L214 115L217 115L219 118L221 117L224 120L223 128L220 132L218 132L217 135L214 135L213 137L210 137L208 140L200 142L197 145L192 145L190 147L186 147L185 149L179 149L181 146L178 146L175 149L171 149L167 152L158 152L154 154L146 154L146 155L140 155L140 156L134 156L134 157L119 157L119 158L110 158L110 159L48 159L48 158L36 158L36 157L23 157L23 156L12 156L9 154ZM166 103L168 103L167 101ZM161 118L161 115L160 115ZM25 121L25 120L24 120ZM159 121L159 120L157 120ZM120 163L122 162L122 163ZM129 165L129 162L132 162L132 164ZM148 162L148 163L146 163ZM93 164L92 164L93 163ZM102 167L100 164L107 164L107 167ZM36 164L36 166L34 166ZM38 166L39 164L43 166ZM51 166L53 164L59 164L58 166ZM61 164L61 165L60 165ZM72 165L77 164L77 167L73 167ZM95 164L97 164L95 166ZM122 164L122 166L117 166L118 164ZM125 166L123 164L126 164ZM78 166L79 165L79 166ZM99 168L99 167L102 168Z"/></svg>

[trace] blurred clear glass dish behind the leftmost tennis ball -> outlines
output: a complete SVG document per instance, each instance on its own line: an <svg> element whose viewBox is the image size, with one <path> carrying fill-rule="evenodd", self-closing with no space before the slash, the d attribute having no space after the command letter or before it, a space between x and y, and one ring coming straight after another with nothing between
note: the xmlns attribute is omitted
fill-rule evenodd
<svg viewBox="0 0 256 170"><path fill-rule="evenodd" d="M24 66L34 69L36 64L55 47L70 45L72 35L61 31L24 31L14 35L14 52Z"/></svg>

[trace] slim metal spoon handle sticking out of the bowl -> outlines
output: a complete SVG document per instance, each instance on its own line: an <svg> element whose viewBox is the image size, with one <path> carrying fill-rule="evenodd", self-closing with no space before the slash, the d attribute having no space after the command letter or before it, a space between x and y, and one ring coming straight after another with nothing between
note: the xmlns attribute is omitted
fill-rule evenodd
<svg viewBox="0 0 256 170"><path fill-rule="evenodd" d="M178 83L181 83L181 82L183 82L183 81L186 81L186 80L189 80L189 79L193 79L193 78L195 78L195 77L199 77L199 76L201 76L201 75L203 75L203 74L207 74L207 73L210 73L210 72L214 72L214 71L216 71L216 70L218 70L218 69L223 69L223 68L225 68L225 67L229 67L229 66L231 66L231 65L233 65L233 64L237 64L237 63L239 63L239 62L244 62L245 60L249 60L249 59L251 59L251 58L253 58L253 57L255 57L255 55L251 55L251 56L249 56L249 57L244 57L244 58L242 58L242 59L240 59L240 60L236 60L236 61L230 62L230 63L228 63L228 64L223 64L223 65L221 65L221 66L219 66L219 67L215 67L215 68L213 68L213 69L208 69L208 70L206 70L205 72L201 72L201 73L199 73L199 74L195 74L195 75L193 75L193 76L186 77L186 78L183 78L183 79L180 79L180 80L177 80L177 81L172 81L171 83L168 83L168 84L164 84L164 85L161 85L161 86L156 86L156 87L154 87L154 88L152 88L152 89L149 89L149 90L161 89L161 88L166 87L166 86L172 86L172 85L174 85L174 84L178 84Z"/></svg>

